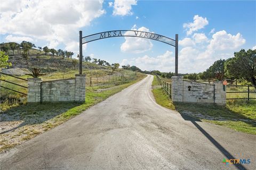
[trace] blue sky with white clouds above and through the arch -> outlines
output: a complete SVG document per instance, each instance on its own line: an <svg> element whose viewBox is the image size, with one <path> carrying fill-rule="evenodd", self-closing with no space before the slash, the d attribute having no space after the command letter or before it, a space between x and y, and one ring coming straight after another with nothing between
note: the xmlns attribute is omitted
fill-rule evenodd
<svg viewBox="0 0 256 170"><path fill-rule="evenodd" d="M78 54L79 30L83 36L110 30L140 30L173 39L178 34L179 73L198 73L241 49L256 49L256 1L1 1L1 43L26 40ZM84 56L162 72L174 72L174 50L134 37L83 45Z"/></svg>

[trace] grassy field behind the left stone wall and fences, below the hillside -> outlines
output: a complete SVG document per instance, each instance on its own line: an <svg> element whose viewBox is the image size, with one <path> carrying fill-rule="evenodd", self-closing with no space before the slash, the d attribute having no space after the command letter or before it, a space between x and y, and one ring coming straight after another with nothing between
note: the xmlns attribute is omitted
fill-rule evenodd
<svg viewBox="0 0 256 170"><path fill-rule="evenodd" d="M69 70L67 72L54 72L42 75L40 78L42 81L49 80L58 80L58 79L68 79L75 78L75 74L77 74L77 70ZM118 69L114 73L109 69L105 70L89 70L84 69L83 74L86 74L86 86L90 86L90 81L92 81L92 86L99 86L105 84L115 84L116 86L119 84L127 83L127 81L131 81L135 79L135 73L129 70ZM91 78L92 77L92 78ZM30 75L23 75L19 78L27 79L31 78ZM10 77L8 75L1 75L2 80L7 80L10 82L14 82L20 84L22 86L27 87L27 81L20 80L17 78ZM27 94L27 88L19 87L11 83L7 83L4 81L0 82L1 86L7 87L16 91L20 91L23 94ZM18 92L14 92L5 88L0 88L1 92L1 106L0 109L5 110L13 106L18 106L20 104L25 104L27 98L25 95L19 94Z"/></svg>

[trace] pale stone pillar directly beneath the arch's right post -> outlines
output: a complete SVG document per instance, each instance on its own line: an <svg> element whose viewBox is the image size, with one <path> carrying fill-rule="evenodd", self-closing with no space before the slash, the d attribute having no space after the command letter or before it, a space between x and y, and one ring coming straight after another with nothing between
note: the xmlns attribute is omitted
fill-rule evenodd
<svg viewBox="0 0 256 170"><path fill-rule="evenodd" d="M183 77L172 77L172 101L183 101Z"/></svg>

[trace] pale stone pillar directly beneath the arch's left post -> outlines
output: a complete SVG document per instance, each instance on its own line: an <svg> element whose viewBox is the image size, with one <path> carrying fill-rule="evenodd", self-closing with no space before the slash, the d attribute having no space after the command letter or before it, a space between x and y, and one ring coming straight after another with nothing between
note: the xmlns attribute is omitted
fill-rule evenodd
<svg viewBox="0 0 256 170"><path fill-rule="evenodd" d="M75 101L85 101L85 74L76 74L75 78Z"/></svg>

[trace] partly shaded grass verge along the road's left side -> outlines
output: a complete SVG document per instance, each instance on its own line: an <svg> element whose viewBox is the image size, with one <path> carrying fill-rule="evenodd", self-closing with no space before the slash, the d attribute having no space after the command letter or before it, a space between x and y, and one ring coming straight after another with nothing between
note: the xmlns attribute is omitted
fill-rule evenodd
<svg viewBox="0 0 256 170"><path fill-rule="evenodd" d="M47 130L66 122L85 109L129 87L145 78L145 74L137 73L133 80L115 86L86 87L85 103L72 102L25 104L7 109L1 115L0 150L12 148ZM4 132L4 133L3 133Z"/></svg>

